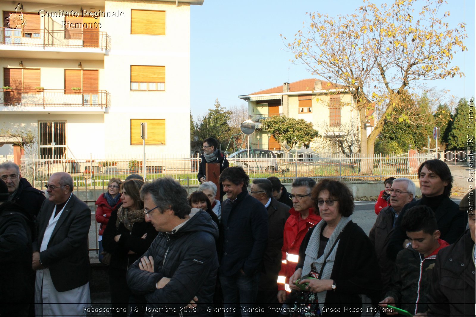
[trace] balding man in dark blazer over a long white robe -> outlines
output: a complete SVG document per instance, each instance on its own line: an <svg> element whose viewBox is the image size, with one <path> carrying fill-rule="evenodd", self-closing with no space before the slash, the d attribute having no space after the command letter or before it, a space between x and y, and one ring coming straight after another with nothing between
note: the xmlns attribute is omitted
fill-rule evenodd
<svg viewBox="0 0 476 317"><path fill-rule="evenodd" d="M68 173L51 175L49 199L38 215L32 268L36 315L86 315L89 307L88 233L91 211L73 195Z"/></svg>

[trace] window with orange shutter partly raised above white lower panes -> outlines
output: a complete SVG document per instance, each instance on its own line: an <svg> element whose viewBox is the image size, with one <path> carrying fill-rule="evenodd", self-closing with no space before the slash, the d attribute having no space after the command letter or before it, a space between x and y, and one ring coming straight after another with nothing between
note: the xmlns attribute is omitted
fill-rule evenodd
<svg viewBox="0 0 476 317"><path fill-rule="evenodd" d="M165 66L130 66L130 90L165 90Z"/></svg>

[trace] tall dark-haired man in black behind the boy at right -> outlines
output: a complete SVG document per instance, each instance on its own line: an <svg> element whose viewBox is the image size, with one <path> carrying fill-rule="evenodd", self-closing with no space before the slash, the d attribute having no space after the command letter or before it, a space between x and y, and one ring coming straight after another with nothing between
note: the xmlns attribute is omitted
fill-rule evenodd
<svg viewBox="0 0 476 317"><path fill-rule="evenodd" d="M407 203L398 215L387 247L387 256L392 261L395 261L400 250L411 245L400 223L405 212L413 206L426 205L435 212L440 238L450 244L455 243L465 231L467 218L464 212L459 211L456 202L449 198L453 176L448 165L440 160L425 161L418 168L418 180L423 198Z"/></svg>

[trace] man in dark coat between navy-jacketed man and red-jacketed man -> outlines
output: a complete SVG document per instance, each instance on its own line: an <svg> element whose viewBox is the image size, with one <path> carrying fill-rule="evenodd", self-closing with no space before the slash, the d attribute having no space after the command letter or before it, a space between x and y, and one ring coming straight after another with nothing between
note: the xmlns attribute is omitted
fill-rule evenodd
<svg viewBox="0 0 476 317"><path fill-rule="evenodd" d="M266 178L256 178L249 190L268 211L268 245L263 254L263 268L259 276L258 303L278 302L278 280L281 269L281 247L284 224L289 217L289 206L273 197L273 185Z"/></svg>

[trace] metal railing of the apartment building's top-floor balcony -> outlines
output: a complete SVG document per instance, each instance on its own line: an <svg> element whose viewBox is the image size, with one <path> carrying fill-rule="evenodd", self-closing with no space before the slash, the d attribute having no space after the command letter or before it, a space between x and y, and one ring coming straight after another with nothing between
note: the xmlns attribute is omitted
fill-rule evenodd
<svg viewBox="0 0 476 317"><path fill-rule="evenodd" d="M68 29L38 29L25 32L23 29L0 28L0 44L42 48L109 48L106 32Z"/></svg>

